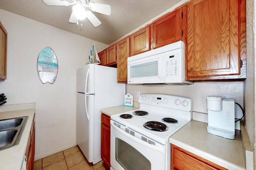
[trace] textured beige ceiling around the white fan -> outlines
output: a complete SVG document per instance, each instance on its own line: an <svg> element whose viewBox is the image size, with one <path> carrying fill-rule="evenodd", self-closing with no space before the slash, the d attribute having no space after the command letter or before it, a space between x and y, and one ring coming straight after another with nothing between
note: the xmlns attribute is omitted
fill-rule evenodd
<svg viewBox="0 0 256 170"><path fill-rule="evenodd" d="M48 6L42 0L0 0L0 9L109 45L181 1L91 0L111 6L110 16L94 12L102 22L98 27L87 19L83 26L69 23L72 6Z"/></svg>

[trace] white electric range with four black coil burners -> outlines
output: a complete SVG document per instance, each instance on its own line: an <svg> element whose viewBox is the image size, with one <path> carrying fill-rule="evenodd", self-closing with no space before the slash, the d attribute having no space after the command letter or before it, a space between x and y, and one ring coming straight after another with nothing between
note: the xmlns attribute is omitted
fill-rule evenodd
<svg viewBox="0 0 256 170"><path fill-rule="evenodd" d="M111 169L169 170L168 141L172 134L191 121L192 100L164 94L142 94L139 103L138 110L111 116Z"/></svg>

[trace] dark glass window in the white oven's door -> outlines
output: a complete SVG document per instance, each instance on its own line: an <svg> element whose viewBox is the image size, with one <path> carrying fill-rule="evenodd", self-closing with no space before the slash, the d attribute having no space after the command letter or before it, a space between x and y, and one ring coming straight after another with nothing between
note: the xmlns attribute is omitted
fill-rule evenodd
<svg viewBox="0 0 256 170"><path fill-rule="evenodd" d="M145 156L118 138L116 138L116 161L125 170L151 170L151 163Z"/></svg>

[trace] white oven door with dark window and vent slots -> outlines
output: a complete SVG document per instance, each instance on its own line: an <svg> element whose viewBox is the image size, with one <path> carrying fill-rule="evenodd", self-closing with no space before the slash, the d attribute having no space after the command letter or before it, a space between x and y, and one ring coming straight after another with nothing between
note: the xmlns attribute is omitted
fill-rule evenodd
<svg viewBox="0 0 256 170"><path fill-rule="evenodd" d="M110 124L112 170L170 170L170 143L157 143L113 120Z"/></svg>

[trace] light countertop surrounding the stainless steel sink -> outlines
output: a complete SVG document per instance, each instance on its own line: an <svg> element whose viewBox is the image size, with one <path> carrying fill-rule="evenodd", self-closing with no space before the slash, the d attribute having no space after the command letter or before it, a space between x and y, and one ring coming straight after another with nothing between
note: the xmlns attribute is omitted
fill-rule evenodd
<svg viewBox="0 0 256 170"><path fill-rule="evenodd" d="M12 105L12 107L13 106L14 105ZM20 143L16 147L0 150L0 170L21 170L23 159L26 154L34 113L35 108L13 111L3 111L3 109L0 110L0 119L28 116Z"/></svg>

